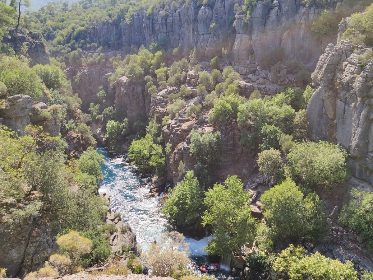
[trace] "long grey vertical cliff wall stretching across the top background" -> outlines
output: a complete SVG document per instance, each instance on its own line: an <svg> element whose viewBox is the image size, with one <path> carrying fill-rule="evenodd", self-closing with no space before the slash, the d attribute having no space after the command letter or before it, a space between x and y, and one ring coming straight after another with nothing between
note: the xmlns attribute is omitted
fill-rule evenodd
<svg viewBox="0 0 373 280"><path fill-rule="evenodd" d="M228 63L240 74L253 72L266 52L276 48L284 50L284 60L296 59L314 69L326 44L335 42L332 37L321 42L311 34L312 22L323 8L307 7L302 0L258 0L250 24L245 25L245 15L233 12L236 3L242 4L240 0L217 0L211 7L201 7L191 1L177 10L150 16L144 11L135 13L130 24L122 19L120 25L91 26L88 35L93 42L119 37L122 46L149 46L153 41L166 40L169 48L179 44L196 47L205 57L221 54L224 47L232 58ZM359 3L354 4L354 10L363 9ZM213 24L215 27L210 28Z"/></svg>

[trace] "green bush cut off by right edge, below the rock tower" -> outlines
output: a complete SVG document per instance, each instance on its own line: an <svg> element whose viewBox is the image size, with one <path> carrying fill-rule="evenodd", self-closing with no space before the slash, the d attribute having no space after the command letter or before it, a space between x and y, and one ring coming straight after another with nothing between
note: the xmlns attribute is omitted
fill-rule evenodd
<svg viewBox="0 0 373 280"><path fill-rule="evenodd" d="M343 206L339 220L360 234L361 240L373 251L373 193L351 190L353 199Z"/></svg>

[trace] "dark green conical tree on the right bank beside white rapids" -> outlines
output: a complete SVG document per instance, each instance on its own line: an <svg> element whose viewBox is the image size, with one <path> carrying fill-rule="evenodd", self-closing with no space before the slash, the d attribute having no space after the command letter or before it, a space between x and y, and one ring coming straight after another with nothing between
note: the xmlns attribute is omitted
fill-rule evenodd
<svg viewBox="0 0 373 280"><path fill-rule="evenodd" d="M167 219L172 224L199 225L203 213L203 192L194 172L189 170L184 179L170 191L162 212L168 214Z"/></svg>

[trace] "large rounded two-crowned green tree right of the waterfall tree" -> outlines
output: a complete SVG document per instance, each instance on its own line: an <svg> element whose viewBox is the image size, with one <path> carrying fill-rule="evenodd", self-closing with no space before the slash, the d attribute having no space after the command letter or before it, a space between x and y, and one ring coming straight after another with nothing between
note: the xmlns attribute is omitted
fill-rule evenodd
<svg viewBox="0 0 373 280"><path fill-rule="evenodd" d="M289 178L266 190L260 200L266 220L280 239L318 240L328 230L323 201L316 193L304 196Z"/></svg>

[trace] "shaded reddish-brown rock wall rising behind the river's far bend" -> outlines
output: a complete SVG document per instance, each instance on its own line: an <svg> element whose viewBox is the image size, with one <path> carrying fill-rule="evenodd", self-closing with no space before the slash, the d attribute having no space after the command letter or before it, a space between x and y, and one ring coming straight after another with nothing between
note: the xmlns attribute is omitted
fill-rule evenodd
<svg viewBox="0 0 373 280"><path fill-rule="evenodd" d="M115 84L115 108L126 113L129 119L147 118L150 110L150 95L144 93L139 83L129 83L126 76L119 78Z"/></svg>

